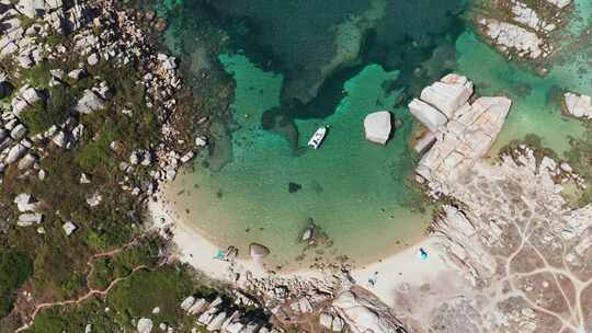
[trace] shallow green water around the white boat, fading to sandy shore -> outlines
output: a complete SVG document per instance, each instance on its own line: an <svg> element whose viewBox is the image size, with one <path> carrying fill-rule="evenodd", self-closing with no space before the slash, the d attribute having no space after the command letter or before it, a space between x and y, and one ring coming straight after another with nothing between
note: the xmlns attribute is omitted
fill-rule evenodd
<svg viewBox="0 0 592 333"><path fill-rule="evenodd" d="M220 60L237 81L232 110L240 129L232 134L234 159L221 171L179 177L173 187L185 188L174 196L180 211L189 208L187 216L220 244L246 249L251 241L265 243L278 264L300 254L298 236L309 218L334 241L326 253L331 259L376 259L421 234L429 215L410 209L420 197L403 183L413 158L405 110L395 114L408 125L386 147L364 139L365 115L392 110L388 106L399 93L386 93L383 87L396 80L397 72L366 66L345 82L346 97L333 115L297 120L301 148L294 150L283 136L260 124L263 111L278 104L282 77L258 69L242 55L224 55ZM323 124L331 127L321 149L304 148ZM289 193L289 182L301 188Z"/></svg>

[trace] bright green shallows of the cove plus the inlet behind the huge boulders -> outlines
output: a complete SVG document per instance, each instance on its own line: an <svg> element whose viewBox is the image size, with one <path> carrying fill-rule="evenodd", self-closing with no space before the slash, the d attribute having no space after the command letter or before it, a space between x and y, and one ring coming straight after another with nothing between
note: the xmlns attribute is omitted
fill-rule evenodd
<svg viewBox="0 0 592 333"><path fill-rule="evenodd" d="M220 248L235 245L244 254L250 242L260 242L272 250L274 265L297 268L342 256L364 264L397 252L421 239L431 220L431 207L412 185L418 157L409 143L414 119L405 107L418 84L454 71L469 77L480 95L510 96L514 104L493 152L535 134L561 156L570 149L570 137L584 134L580 122L561 115L558 99L563 90L592 94L588 71L592 47L589 38L578 38L592 22L592 4L577 0L576 5L576 19L565 37L569 51L554 55L546 76L508 61L464 26L443 38L448 43L445 47L423 54L420 62L409 62L413 68L407 68L406 61L382 62L379 57L357 62L339 83L341 95L329 104L333 110L319 110L319 117L295 117L293 127L280 130L263 129L261 119L265 111L282 105L286 81L282 71L261 66L260 54L257 60L248 51L219 54L216 61L236 83L232 129L218 145L229 158L219 164L215 153L204 152L193 170L172 184L170 199L179 215ZM173 43L178 42L174 30L167 36L171 47L179 46ZM411 49L408 54L425 42L422 38L405 42ZM447 56L441 59L439 49L444 48ZM196 54L186 46L180 51L185 61L203 58ZM380 110L390 111L403 124L386 147L366 141L363 133L365 115ZM307 149L309 136L325 124L330 133L321 149ZM297 142L289 139L295 137ZM299 191L291 193L289 183L298 184ZM305 249L298 238L310 220L332 245L306 251L304 261L295 261Z"/></svg>

